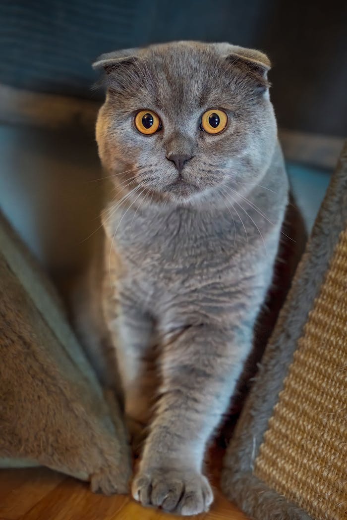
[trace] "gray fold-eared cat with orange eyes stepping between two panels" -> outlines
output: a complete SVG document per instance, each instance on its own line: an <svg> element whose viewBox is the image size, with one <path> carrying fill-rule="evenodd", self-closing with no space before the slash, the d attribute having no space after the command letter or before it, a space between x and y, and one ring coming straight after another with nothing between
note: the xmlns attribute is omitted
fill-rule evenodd
<svg viewBox="0 0 347 520"><path fill-rule="evenodd" d="M250 354L288 202L270 63L227 43L177 42L95 67L106 72L96 135L112 181L102 309L128 425L136 436L149 424L132 493L197 514L213 501L205 447Z"/></svg>

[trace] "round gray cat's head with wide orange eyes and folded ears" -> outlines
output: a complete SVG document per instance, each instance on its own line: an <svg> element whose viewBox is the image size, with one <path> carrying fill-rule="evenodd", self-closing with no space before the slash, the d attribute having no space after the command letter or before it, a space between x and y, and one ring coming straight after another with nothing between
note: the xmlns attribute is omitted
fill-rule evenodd
<svg viewBox="0 0 347 520"><path fill-rule="evenodd" d="M223 187L245 191L265 172L276 123L263 54L177 42L111 53L96 65L108 86L99 155L125 191L186 203L216 189L221 197Z"/></svg>

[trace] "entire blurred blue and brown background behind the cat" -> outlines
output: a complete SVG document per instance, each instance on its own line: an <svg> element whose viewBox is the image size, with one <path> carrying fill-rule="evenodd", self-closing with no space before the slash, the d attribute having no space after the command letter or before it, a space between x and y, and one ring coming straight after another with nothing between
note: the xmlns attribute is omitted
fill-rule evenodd
<svg viewBox="0 0 347 520"><path fill-rule="evenodd" d="M102 93L91 63L118 48L190 39L265 51L311 228L347 134L345 0L1 0L0 29L0 208L60 289L83 269L98 227Z"/></svg>

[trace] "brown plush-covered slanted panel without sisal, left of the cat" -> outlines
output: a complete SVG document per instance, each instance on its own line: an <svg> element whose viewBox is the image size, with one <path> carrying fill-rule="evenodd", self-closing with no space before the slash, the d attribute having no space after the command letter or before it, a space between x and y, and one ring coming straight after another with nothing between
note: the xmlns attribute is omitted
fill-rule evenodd
<svg viewBox="0 0 347 520"><path fill-rule="evenodd" d="M127 492L117 402L102 394L53 287L0 215L0 467L45 465Z"/></svg>

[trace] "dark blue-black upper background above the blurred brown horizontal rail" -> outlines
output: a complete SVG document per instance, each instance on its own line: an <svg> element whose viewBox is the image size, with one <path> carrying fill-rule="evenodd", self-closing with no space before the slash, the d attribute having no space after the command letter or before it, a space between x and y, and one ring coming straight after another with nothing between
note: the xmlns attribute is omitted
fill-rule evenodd
<svg viewBox="0 0 347 520"><path fill-rule="evenodd" d="M95 98L91 62L117 48L228 41L273 62L279 126L347 134L347 2L28 0L0 2L0 82Z"/></svg>

